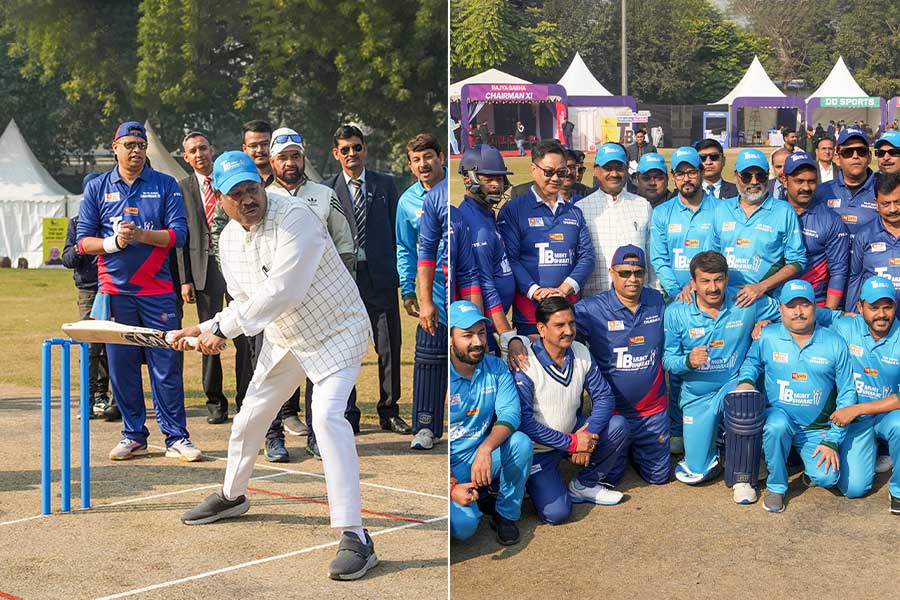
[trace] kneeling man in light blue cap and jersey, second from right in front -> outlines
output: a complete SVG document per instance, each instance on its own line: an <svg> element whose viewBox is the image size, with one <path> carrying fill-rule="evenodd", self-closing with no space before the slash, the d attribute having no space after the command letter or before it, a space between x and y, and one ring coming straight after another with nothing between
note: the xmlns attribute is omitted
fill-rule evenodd
<svg viewBox="0 0 900 600"><path fill-rule="evenodd" d="M764 508L784 510L787 457L796 448L807 485L831 487L841 468L838 447L846 430L829 421L836 408L856 404L847 343L816 326L816 304L808 281L788 282L781 292L781 324L767 327L741 366L737 391L755 390L765 373L769 400L763 450L769 468Z"/></svg>

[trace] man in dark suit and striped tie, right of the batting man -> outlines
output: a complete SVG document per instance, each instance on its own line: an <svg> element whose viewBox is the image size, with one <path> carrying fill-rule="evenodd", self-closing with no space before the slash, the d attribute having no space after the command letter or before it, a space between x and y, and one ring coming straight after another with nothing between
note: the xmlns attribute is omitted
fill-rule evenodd
<svg viewBox="0 0 900 600"><path fill-rule="evenodd" d="M342 125L334 134L332 154L341 171L326 180L344 208L356 243L356 284L375 338L378 354L378 417L382 429L411 434L400 417L400 303L397 288L397 188L390 175L365 168L368 146L362 131ZM307 386L309 387L309 386ZM359 428L356 388L350 393L347 418Z"/></svg>

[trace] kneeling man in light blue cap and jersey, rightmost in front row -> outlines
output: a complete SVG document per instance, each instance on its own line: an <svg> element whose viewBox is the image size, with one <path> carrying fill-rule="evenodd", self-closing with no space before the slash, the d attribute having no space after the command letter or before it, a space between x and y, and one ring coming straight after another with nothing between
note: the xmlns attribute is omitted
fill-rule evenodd
<svg viewBox="0 0 900 600"><path fill-rule="evenodd" d="M848 498L867 494L875 473L900 461L900 324L893 284L883 277L866 280L857 311L831 325L847 343L859 398L831 415L847 431L837 485ZM876 437L888 444L889 456L876 457ZM891 513L900 515L900 469L894 469L888 489Z"/></svg>

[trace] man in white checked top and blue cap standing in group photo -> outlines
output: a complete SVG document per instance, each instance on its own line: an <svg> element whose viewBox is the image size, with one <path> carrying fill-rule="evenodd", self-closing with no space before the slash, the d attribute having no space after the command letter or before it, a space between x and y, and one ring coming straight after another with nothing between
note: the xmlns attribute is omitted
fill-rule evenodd
<svg viewBox="0 0 900 600"><path fill-rule="evenodd" d="M621 145L607 143L597 148L594 175L599 189L576 203L584 213L596 260L584 282L585 297L609 289L609 266L617 248L632 244L649 253L653 210L644 198L625 189L628 159ZM647 285L654 285L656 278L647 275Z"/></svg>

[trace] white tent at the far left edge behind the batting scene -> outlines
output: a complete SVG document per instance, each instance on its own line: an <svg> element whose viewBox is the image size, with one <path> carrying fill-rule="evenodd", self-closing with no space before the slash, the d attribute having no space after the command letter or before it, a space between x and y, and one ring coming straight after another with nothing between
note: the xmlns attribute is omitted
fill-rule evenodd
<svg viewBox="0 0 900 600"><path fill-rule="evenodd" d="M0 256L41 266L43 219L74 216L79 200L50 176L11 120L0 136Z"/></svg>

